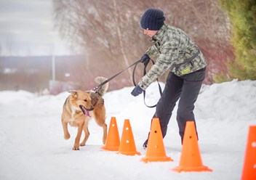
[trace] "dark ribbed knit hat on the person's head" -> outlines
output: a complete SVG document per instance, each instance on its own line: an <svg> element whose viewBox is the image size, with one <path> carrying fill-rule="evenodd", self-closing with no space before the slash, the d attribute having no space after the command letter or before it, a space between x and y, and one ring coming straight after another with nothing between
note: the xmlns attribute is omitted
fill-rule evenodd
<svg viewBox="0 0 256 180"><path fill-rule="evenodd" d="M140 26L145 30L159 30L164 24L164 12L160 9L148 9L140 19Z"/></svg>

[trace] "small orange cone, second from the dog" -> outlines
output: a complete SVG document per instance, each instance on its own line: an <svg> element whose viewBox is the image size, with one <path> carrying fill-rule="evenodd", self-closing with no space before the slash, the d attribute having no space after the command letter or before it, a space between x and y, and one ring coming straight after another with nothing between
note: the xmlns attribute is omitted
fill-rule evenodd
<svg viewBox="0 0 256 180"><path fill-rule="evenodd" d="M132 127L129 123L129 119L124 120L119 153L123 155L140 155L140 152L137 152L135 147L135 139L133 138Z"/></svg>

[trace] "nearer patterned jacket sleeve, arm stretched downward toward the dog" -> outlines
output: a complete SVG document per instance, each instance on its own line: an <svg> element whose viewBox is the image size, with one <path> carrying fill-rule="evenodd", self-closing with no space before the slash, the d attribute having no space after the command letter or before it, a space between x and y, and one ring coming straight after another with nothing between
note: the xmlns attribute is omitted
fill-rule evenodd
<svg viewBox="0 0 256 180"><path fill-rule="evenodd" d="M156 78L163 75L164 72L172 65L178 58L178 42L177 41L167 41L161 47L161 53L156 59L156 63L151 67L151 69L146 73L146 75L141 78L138 85L141 89L145 90L148 86L156 81Z"/></svg>

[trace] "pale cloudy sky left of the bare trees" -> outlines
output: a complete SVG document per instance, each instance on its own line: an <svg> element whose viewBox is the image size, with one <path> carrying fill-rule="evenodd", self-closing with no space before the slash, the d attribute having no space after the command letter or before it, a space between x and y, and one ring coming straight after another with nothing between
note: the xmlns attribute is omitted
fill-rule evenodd
<svg viewBox="0 0 256 180"><path fill-rule="evenodd" d="M53 15L52 0L0 0L0 55L72 54Z"/></svg>

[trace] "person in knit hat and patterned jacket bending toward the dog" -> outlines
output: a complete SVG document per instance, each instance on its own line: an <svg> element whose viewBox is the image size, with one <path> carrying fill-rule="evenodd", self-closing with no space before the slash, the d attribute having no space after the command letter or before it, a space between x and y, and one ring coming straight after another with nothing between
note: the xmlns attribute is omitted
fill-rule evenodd
<svg viewBox="0 0 256 180"><path fill-rule="evenodd" d="M177 124L183 143L186 121L195 121L194 103L204 80L207 62L199 51L199 47L183 30L165 24L164 20L164 12L160 9L148 9L140 19L144 34L153 42L153 46L145 52L141 62L147 63L150 58L156 56L157 59L155 65L143 76L131 94L135 97L141 94L153 81L156 81L156 78L169 70L166 85L157 102L153 118L159 118L164 138L172 110L180 99L177 108ZM143 147L146 148L147 145L148 139Z"/></svg>

